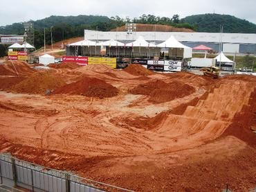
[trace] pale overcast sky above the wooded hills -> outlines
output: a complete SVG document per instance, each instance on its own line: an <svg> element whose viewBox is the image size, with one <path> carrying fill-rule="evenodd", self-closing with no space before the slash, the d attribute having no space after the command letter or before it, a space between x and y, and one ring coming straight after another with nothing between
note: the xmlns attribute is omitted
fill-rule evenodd
<svg viewBox="0 0 256 192"><path fill-rule="evenodd" d="M0 26L51 15L106 15L130 18L145 14L181 18L203 13L233 15L256 24L256 0L13 0L1 1Z"/></svg>

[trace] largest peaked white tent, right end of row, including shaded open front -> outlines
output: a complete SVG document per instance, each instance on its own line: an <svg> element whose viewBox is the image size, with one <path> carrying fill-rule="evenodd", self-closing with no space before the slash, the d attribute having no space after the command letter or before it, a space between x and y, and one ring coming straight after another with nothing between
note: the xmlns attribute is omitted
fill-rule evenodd
<svg viewBox="0 0 256 192"><path fill-rule="evenodd" d="M158 47L169 48L169 57L181 57L181 58L192 58L192 48L181 44L175 39L174 36L171 36L165 42L158 44Z"/></svg>

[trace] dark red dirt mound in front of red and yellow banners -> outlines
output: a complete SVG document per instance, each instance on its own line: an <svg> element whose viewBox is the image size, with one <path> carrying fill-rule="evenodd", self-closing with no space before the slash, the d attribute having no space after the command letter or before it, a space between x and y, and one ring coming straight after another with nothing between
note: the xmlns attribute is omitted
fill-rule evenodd
<svg viewBox="0 0 256 192"><path fill-rule="evenodd" d="M118 95L118 89L98 78L84 77L82 80L56 89L53 93L107 98Z"/></svg>

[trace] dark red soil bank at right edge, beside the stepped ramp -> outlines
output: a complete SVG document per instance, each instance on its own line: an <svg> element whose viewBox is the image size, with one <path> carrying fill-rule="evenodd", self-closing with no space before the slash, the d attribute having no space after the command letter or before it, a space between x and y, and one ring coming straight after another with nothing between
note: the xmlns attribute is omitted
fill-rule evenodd
<svg viewBox="0 0 256 192"><path fill-rule="evenodd" d="M241 112L235 115L232 124L222 136L233 135L256 148L256 134L253 131L256 131L256 88L248 105L244 105Z"/></svg>

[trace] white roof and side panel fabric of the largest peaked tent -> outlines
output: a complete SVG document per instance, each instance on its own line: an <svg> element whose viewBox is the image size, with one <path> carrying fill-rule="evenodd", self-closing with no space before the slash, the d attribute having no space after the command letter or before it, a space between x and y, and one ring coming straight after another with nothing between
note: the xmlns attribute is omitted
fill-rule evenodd
<svg viewBox="0 0 256 192"><path fill-rule="evenodd" d="M158 44L158 47L162 48L177 48L177 49L184 49L183 51L183 58L192 58L192 48L189 46L185 46L178 42L174 36L171 36L165 42Z"/></svg>

